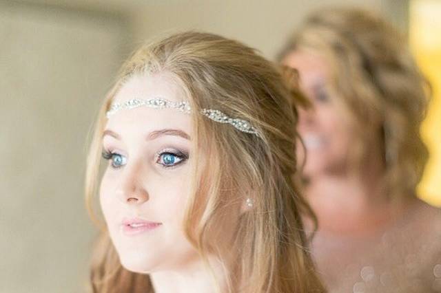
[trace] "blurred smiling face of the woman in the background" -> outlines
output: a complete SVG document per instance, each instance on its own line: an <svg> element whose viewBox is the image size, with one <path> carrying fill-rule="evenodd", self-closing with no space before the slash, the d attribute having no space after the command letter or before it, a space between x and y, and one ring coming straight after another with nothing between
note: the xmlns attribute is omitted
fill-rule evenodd
<svg viewBox="0 0 441 293"><path fill-rule="evenodd" d="M345 122L337 96L329 94L329 65L323 56L305 51L292 52L285 64L298 69L300 87L311 101L312 109L299 109L298 131L305 143L307 162L304 173L339 172L345 168L353 133ZM298 147L299 162L302 148Z"/></svg>

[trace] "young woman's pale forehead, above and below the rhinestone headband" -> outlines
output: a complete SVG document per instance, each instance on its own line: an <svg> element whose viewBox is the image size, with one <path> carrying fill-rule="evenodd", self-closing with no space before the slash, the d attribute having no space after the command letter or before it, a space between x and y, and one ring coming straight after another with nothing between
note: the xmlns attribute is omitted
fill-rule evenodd
<svg viewBox="0 0 441 293"><path fill-rule="evenodd" d="M183 89L171 74L137 74L130 77L114 96L114 103L132 99L163 98L172 102L184 101ZM148 133L158 129L178 129L190 134L190 116L177 109L138 107L121 109L107 120L107 129L119 133Z"/></svg>

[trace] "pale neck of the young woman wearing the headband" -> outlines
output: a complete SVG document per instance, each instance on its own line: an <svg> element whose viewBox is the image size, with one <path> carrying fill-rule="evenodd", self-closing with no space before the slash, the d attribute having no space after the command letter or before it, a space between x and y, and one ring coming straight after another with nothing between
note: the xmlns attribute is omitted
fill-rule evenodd
<svg viewBox="0 0 441 293"><path fill-rule="evenodd" d="M150 279L156 293L191 293L191 292L223 292L225 276L223 265L218 261L210 261L212 271L203 261L192 263L180 270L154 272ZM216 276L216 279L214 279Z"/></svg>

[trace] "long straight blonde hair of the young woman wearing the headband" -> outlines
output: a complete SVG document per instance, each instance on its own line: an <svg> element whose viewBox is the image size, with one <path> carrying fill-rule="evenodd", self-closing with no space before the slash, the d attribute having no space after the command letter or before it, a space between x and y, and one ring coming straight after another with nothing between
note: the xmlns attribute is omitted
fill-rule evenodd
<svg viewBox="0 0 441 293"><path fill-rule="evenodd" d="M316 218L291 180L296 173L295 91L278 67L236 41L197 32L176 34L144 45L123 65L103 103L88 157L86 199L92 215L105 111L131 76L161 72L174 76L192 107L194 182L184 221L189 241L205 259L216 254L208 231L228 215L232 201L252 197L253 207L240 215L229 250L237 254L235 261L225 263L229 292L323 292L302 224L303 216ZM203 108L248 120L260 137L198 115L196 109ZM203 162L198 160L202 153L209 164L195 164ZM91 283L93 292L154 292L148 275L121 266L105 228L94 253Z"/></svg>

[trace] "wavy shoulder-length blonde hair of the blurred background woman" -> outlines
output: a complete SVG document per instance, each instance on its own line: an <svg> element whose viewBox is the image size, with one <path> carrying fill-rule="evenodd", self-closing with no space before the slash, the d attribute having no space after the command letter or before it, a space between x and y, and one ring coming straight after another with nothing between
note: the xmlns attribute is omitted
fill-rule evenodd
<svg viewBox="0 0 441 293"><path fill-rule="evenodd" d="M350 162L362 164L368 149L381 145L387 193L415 195L428 157L420 124L430 89L404 36L376 14L334 8L311 14L278 60L296 50L324 56L331 69L327 90L359 135Z"/></svg>

